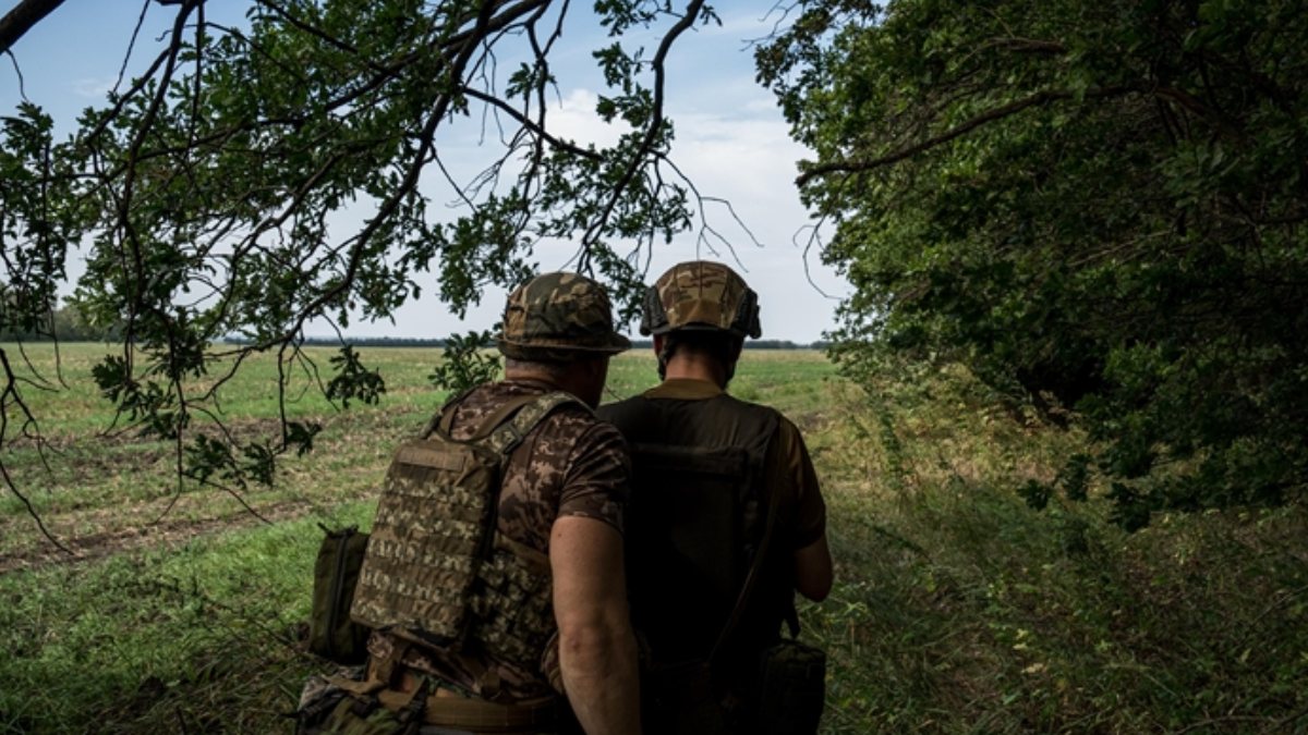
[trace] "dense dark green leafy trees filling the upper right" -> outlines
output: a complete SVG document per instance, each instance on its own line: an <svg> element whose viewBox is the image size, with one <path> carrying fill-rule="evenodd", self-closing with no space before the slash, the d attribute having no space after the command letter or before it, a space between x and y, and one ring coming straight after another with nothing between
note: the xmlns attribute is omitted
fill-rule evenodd
<svg viewBox="0 0 1308 735"><path fill-rule="evenodd" d="M757 60L857 289L848 365L956 360L1074 408L1129 528L1303 496L1301 4L798 5Z"/></svg>

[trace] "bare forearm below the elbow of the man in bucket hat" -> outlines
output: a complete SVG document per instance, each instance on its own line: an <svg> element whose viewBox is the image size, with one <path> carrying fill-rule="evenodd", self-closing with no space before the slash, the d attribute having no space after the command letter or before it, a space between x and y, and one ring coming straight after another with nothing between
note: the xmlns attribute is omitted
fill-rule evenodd
<svg viewBox="0 0 1308 735"><path fill-rule="evenodd" d="M560 638L564 688L587 735L628 735L640 730L636 638L615 623Z"/></svg>

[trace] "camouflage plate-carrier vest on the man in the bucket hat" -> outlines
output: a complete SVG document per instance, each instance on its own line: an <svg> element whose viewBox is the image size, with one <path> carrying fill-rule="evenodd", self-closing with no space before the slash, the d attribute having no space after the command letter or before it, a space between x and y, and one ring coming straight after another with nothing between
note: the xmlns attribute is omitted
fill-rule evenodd
<svg viewBox="0 0 1308 735"><path fill-rule="evenodd" d="M506 402L467 441L446 404L387 471L351 616L449 654L535 671L556 629L549 561L496 528L504 468L565 392ZM587 408L589 411L589 408Z"/></svg>

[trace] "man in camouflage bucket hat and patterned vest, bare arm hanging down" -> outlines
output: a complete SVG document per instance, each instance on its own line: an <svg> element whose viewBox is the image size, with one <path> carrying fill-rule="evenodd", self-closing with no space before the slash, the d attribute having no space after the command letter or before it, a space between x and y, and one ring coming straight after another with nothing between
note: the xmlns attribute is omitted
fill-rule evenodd
<svg viewBox="0 0 1308 735"><path fill-rule="evenodd" d="M334 713L348 722L326 731L395 731L366 728L392 715L419 721L404 732L640 731L623 568L629 460L591 412L610 357L629 347L590 279L547 273L513 292L498 341L505 379L453 399L426 432L443 443L405 445L392 463L400 477L383 489L352 608L374 629L368 683L356 687L374 706ZM470 560L451 551L468 527L458 498L476 493L462 476L441 489L430 477L451 464L439 453L485 437L504 453L493 543L471 561L475 583L459 587L450 579ZM405 456L426 466L405 475ZM442 632L450 620L458 636ZM562 693L576 722L557 718Z"/></svg>

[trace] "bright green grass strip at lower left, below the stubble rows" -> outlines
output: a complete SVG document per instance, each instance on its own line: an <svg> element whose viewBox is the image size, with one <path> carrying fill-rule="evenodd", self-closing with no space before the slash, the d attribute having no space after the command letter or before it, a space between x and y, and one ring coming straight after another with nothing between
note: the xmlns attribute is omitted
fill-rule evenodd
<svg viewBox="0 0 1308 735"><path fill-rule="evenodd" d="M336 510L364 522L371 504ZM315 519L198 538L167 551L0 578L0 727L27 732L267 731L293 708ZM196 694L201 698L195 700ZM171 725L165 725L171 723ZM281 726L285 728L285 725Z"/></svg>

